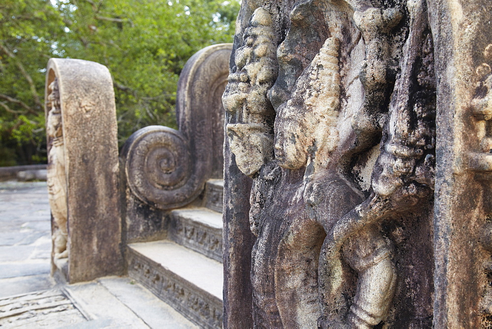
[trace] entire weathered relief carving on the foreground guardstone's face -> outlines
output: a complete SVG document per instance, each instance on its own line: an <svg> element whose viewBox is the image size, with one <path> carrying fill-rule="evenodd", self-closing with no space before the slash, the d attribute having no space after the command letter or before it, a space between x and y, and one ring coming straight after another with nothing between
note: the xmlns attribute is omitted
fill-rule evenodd
<svg viewBox="0 0 492 329"><path fill-rule="evenodd" d="M431 239L426 2L295 2L283 40L272 11L251 15L223 96L231 151L253 178L254 324L426 327L431 247L411 264L412 243Z"/></svg>

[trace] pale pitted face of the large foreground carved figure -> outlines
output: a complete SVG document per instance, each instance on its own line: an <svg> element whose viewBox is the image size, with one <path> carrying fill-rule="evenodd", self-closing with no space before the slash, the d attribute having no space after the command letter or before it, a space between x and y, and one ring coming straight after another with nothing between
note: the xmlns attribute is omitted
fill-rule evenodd
<svg viewBox="0 0 492 329"><path fill-rule="evenodd" d="M287 169L299 169L307 163L307 129L298 108L290 102L280 105L275 118L275 158Z"/></svg>

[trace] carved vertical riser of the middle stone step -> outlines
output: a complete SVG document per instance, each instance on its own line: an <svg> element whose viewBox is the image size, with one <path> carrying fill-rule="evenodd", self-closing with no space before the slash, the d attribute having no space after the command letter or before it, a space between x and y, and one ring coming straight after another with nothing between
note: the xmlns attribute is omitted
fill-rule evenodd
<svg viewBox="0 0 492 329"><path fill-rule="evenodd" d="M222 229L211 228L173 212L168 238L222 263Z"/></svg>

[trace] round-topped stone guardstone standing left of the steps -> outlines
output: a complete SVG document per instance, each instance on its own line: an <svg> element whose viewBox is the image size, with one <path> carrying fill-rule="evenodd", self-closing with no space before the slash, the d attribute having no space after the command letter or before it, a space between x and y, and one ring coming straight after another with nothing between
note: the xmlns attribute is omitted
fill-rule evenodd
<svg viewBox="0 0 492 329"><path fill-rule="evenodd" d="M52 273L69 283L121 275L120 169L111 75L97 63L50 59L45 95Z"/></svg>

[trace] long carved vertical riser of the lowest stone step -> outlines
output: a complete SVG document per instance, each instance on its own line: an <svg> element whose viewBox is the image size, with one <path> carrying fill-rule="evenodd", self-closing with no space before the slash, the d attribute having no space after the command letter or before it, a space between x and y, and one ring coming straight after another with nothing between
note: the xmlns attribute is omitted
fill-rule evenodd
<svg viewBox="0 0 492 329"><path fill-rule="evenodd" d="M128 276L201 328L222 327L222 302L128 248Z"/></svg>

